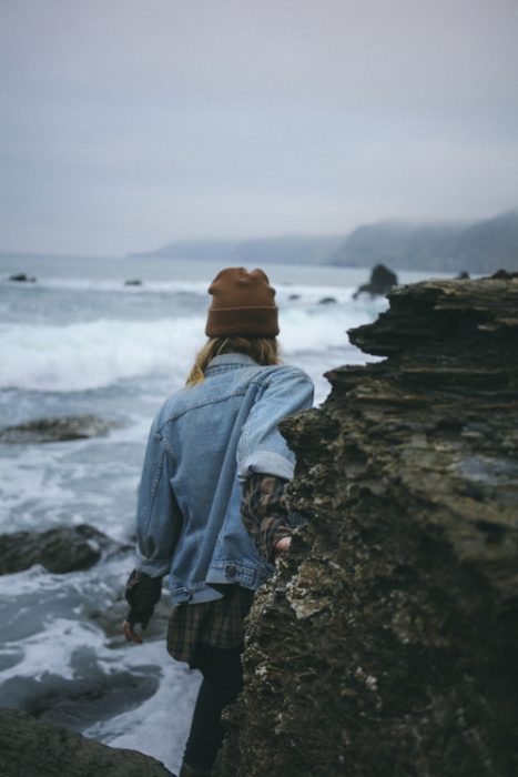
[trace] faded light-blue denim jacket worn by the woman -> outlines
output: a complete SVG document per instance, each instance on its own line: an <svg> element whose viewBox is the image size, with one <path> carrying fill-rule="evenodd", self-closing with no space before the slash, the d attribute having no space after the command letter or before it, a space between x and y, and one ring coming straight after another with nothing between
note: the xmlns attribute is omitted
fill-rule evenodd
<svg viewBox="0 0 518 777"><path fill-rule="evenodd" d="M136 536L138 568L169 573L174 606L220 598L219 584L255 589L271 574L243 525L241 484L252 472L293 476L278 422L312 402L304 372L243 354L216 356L203 383L167 398L148 442Z"/></svg>

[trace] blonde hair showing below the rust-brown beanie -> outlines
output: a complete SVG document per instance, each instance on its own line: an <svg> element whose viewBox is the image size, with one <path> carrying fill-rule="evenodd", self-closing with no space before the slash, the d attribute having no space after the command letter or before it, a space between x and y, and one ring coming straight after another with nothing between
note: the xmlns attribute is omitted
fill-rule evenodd
<svg viewBox="0 0 518 777"><path fill-rule="evenodd" d="M278 343L276 337L210 337L205 345L196 353L193 367L185 382L186 386L195 386L205 380L205 370L215 356L223 353L244 353L251 356L257 364L282 364L278 357Z"/></svg>

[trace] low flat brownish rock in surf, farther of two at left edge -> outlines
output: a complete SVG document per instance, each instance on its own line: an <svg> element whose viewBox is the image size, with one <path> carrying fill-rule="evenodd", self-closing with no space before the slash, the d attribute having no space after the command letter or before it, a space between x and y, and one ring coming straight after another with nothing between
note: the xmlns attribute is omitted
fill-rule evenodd
<svg viewBox="0 0 518 777"><path fill-rule="evenodd" d="M37 418L27 424L0 430L0 443L58 443L97 437L113 426L95 415L69 415L63 418Z"/></svg>

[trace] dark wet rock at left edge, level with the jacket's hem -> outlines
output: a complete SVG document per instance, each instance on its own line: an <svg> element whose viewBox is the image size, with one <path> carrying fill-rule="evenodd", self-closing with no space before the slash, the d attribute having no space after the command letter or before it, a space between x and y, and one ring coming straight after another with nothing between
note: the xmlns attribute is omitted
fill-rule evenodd
<svg viewBox="0 0 518 777"><path fill-rule="evenodd" d="M113 555L126 547L88 524L1 534L0 575L29 569L34 564L58 574L88 569L103 554Z"/></svg>

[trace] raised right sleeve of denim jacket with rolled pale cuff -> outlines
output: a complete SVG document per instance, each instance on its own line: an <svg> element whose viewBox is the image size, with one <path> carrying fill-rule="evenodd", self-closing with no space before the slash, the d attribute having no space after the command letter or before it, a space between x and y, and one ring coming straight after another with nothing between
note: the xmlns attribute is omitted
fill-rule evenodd
<svg viewBox="0 0 518 777"><path fill-rule="evenodd" d="M286 416L313 404L311 379L296 367L281 367L267 377L243 426L237 445L237 472L242 482L252 473L293 477L295 454L278 431Z"/></svg>

